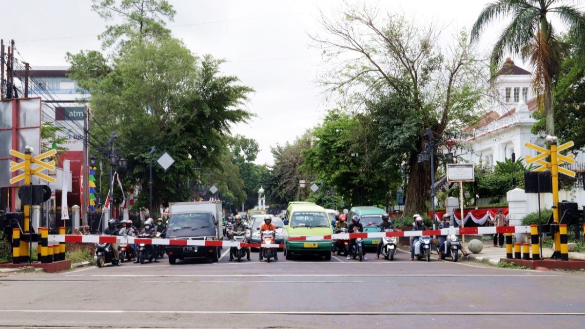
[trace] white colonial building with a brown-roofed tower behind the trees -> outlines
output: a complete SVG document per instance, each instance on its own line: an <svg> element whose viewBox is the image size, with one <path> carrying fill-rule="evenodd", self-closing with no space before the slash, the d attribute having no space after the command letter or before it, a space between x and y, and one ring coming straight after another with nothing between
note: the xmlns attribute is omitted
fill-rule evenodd
<svg viewBox="0 0 585 329"><path fill-rule="evenodd" d="M526 148L525 143L545 145L544 136L531 132L536 122L532 113L538 107L532 93L531 73L506 59L496 78L497 99L491 101L491 111L485 114L477 126L469 128L470 137L464 141L465 162L494 166L498 161L537 155ZM577 162L585 163L582 152L577 153Z"/></svg>

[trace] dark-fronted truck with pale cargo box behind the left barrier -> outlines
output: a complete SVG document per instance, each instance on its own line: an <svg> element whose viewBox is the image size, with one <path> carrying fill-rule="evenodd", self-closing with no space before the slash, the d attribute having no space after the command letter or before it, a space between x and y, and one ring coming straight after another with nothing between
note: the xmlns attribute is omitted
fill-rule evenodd
<svg viewBox="0 0 585 329"><path fill-rule="evenodd" d="M220 240L222 239L221 201L193 201L169 204L166 237L169 239ZM217 262L221 253L217 246L166 246L170 264L177 259L211 258Z"/></svg>

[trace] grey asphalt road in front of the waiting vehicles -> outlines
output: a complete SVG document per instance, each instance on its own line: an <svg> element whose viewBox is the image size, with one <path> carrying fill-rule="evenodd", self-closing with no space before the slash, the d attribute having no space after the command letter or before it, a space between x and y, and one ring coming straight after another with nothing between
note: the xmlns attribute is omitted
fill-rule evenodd
<svg viewBox="0 0 585 329"><path fill-rule="evenodd" d="M226 250L224 249L224 252ZM0 277L0 327L582 327L585 275L334 257Z"/></svg>

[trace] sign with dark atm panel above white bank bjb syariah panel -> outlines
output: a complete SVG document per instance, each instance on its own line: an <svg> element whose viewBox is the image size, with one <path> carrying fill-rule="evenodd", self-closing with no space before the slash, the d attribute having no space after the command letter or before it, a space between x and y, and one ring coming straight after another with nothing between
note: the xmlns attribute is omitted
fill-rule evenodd
<svg viewBox="0 0 585 329"><path fill-rule="evenodd" d="M84 112L84 107L55 108L55 124L63 129L56 133L57 138L66 139L62 146L70 151L83 150Z"/></svg>

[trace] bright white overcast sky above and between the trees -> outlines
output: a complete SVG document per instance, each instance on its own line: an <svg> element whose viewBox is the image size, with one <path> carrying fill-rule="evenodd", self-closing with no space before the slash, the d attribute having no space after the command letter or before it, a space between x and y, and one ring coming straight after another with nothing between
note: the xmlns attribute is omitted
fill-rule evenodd
<svg viewBox="0 0 585 329"><path fill-rule="evenodd" d="M194 54L209 53L227 60L226 74L235 74L254 88L247 105L257 118L235 127L233 133L260 144L257 163L273 162L270 146L292 141L318 124L327 109L324 88L316 83L323 73L321 50L309 35L321 31L319 11L338 10L341 1L180 1L169 0L177 11L168 23L173 36ZM363 1L349 1L361 4ZM384 11L404 13L417 22L436 22L452 32L470 29L484 0L366 1ZM89 0L0 0L0 38L14 39L32 66L67 65L66 52L100 49L97 35L106 22L91 11ZM8 13L8 10L11 13ZM487 51L500 32L493 25L479 47ZM451 33L452 35L452 33ZM518 64L518 61L517 61Z"/></svg>

